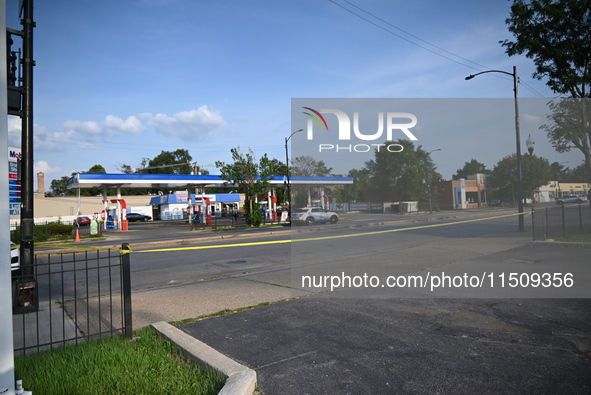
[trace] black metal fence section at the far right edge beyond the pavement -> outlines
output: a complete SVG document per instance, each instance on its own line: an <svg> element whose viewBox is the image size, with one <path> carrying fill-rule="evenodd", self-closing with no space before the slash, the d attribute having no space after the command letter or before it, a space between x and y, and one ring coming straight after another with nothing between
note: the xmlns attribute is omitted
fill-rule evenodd
<svg viewBox="0 0 591 395"><path fill-rule="evenodd" d="M532 207L534 241L591 233L591 203Z"/></svg>

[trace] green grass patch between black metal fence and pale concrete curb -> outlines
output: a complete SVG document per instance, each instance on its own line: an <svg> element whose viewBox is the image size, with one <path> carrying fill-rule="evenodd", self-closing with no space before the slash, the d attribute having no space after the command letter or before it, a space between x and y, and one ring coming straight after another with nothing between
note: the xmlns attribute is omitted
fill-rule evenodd
<svg viewBox="0 0 591 395"><path fill-rule="evenodd" d="M35 395L217 394L225 378L186 359L151 328L17 356L15 372Z"/></svg>

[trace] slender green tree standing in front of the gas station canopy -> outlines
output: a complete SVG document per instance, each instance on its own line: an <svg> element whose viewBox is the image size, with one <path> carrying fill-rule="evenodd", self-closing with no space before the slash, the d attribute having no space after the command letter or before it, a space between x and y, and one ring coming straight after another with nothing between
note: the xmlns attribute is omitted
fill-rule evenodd
<svg viewBox="0 0 591 395"><path fill-rule="evenodd" d="M259 226L262 222L260 207L255 204L258 195L269 190L269 180L276 170L276 162L270 160L267 154L257 162L252 149L248 153L242 153L240 147L232 148L233 163L216 161L215 165L220 170L220 176L226 180L225 184L233 184L245 195L245 211L247 223Z"/></svg>

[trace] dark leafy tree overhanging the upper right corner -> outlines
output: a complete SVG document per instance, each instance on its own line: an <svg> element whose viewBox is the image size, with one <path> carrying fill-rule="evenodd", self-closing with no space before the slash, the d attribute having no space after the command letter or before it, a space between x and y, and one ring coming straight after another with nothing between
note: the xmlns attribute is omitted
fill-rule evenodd
<svg viewBox="0 0 591 395"><path fill-rule="evenodd" d="M509 56L525 54L536 65L534 78L547 78L555 93L571 98L591 97L591 1L514 0L506 20L515 41L501 44ZM579 109L554 108L553 124L545 126L558 152L573 146L585 158L591 182L591 117L588 100ZM573 115L574 114L574 115Z"/></svg>

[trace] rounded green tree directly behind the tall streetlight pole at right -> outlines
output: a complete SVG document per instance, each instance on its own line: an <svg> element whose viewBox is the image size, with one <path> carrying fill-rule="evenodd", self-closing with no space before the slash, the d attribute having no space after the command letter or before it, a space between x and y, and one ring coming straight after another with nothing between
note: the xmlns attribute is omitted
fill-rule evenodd
<svg viewBox="0 0 591 395"><path fill-rule="evenodd" d="M552 167L548 159L536 155L524 155L521 160L521 174L524 198L533 198L534 192L552 181ZM488 178L489 187L495 191L497 199L517 204L519 187L517 176L517 155L505 156L494 167Z"/></svg>

